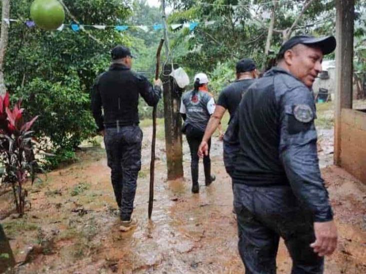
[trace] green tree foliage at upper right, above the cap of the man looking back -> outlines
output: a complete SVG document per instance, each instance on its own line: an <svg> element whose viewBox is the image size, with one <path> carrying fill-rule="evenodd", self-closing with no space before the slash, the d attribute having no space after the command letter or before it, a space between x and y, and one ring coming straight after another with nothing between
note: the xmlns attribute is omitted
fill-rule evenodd
<svg viewBox="0 0 366 274"><path fill-rule="evenodd" d="M178 35L172 42L175 60L187 67L191 75L198 71L208 73L212 80L210 87L215 93L234 78L234 63L238 59L250 57L258 68L265 68L283 42L282 31L292 26L306 2L277 1L270 52L266 56L264 47L273 1L171 0L174 12L168 18L170 23L199 23L193 32L187 28L177 31ZM356 0L356 14L362 14L364 6L364 1ZM360 21L359 17L356 21ZM359 32L362 28L356 28L356 35ZM291 35L303 33L316 36L335 34L334 0L311 2L293 27ZM333 57L328 55L326 58Z"/></svg>

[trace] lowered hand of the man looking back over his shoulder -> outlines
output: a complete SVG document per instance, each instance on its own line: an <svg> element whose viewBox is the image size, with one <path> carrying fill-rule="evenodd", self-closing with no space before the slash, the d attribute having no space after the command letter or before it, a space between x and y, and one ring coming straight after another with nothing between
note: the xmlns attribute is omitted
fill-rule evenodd
<svg viewBox="0 0 366 274"><path fill-rule="evenodd" d="M337 229L333 221L314 223L315 242L310 245L318 256L331 255L337 247Z"/></svg>

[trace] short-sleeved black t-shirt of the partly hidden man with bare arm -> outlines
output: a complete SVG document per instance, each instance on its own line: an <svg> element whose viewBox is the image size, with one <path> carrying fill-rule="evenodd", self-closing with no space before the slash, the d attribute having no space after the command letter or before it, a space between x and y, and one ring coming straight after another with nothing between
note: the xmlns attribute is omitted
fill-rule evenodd
<svg viewBox="0 0 366 274"><path fill-rule="evenodd" d="M246 91L254 80L255 79L236 80L221 91L216 105L222 106L228 110L230 114L230 120L228 123L230 123L236 108L239 105L242 93Z"/></svg>

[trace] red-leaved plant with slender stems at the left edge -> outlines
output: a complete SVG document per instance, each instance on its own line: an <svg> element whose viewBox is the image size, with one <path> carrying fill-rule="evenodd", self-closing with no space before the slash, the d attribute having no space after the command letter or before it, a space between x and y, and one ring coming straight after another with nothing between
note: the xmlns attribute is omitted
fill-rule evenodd
<svg viewBox="0 0 366 274"><path fill-rule="evenodd" d="M4 167L2 183L11 184L14 203L17 213L24 214L25 197L27 196L23 184L27 180L27 175L31 177L31 183L34 181L35 160L26 160L26 153L31 150L30 128L38 118L35 116L29 122L24 122L23 111L19 100L10 109L9 94L0 96L0 155L1 163Z"/></svg>

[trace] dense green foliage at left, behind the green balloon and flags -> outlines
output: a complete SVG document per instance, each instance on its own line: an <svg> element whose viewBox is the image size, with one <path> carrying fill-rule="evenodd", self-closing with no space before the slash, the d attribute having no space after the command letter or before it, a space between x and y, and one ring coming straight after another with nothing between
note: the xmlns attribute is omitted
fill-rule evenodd
<svg viewBox="0 0 366 274"><path fill-rule="evenodd" d="M10 17L29 19L31 0L12 0ZM118 24L130 15L121 0L63 0L83 24ZM65 23L72 19L66 14ZM56 159L72 155L81 140L92 136L95 125L89 111L90 90L98 73L109 65L109 49L130 44L131 38L112 28L74 32L27 28L11 23L5 59L5 81L13 99L22 98L27 115L39 114L36 136L47 137ZM62 156L63 155L63 156Z"/></svg>

